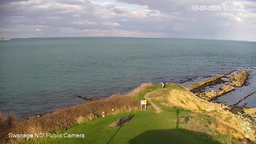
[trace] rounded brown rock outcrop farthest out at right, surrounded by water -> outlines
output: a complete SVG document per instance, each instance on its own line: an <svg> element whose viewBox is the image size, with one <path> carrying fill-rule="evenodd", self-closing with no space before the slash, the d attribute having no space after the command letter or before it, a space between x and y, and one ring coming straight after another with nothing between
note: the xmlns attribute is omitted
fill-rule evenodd
<svg viewBox="0 0 256 144"><path fill-rule="evenodd" d="M245 70L239 71L237 72L237 74L233 74L230 77L230 81L231 81L230 86L242 87L246 83L248 76L249 74Z"/></svg>

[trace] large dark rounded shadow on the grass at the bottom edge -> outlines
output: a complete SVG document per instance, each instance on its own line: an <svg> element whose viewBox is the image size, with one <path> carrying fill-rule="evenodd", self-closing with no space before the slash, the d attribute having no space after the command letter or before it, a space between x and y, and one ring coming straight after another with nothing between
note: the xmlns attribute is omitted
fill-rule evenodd
<svg viewBox="0 0 256 144"><path fill-rule="evenodd" d="M202 136L200 136L202 135ZM220 144L206 134L195 134L180 128L167 130L149 130L129 141L129 144Z"/></svg>

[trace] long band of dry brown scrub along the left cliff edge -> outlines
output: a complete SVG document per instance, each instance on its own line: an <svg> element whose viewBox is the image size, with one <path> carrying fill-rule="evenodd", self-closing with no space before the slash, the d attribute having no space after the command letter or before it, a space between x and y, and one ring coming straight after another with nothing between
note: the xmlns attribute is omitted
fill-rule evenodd
<svg viewBox="0 0 256 144"><path fill-rule="evenodd" d="M26 120L18 119L12 113L0 113L0 140L3 143L19 142L23 139L8 138L8 133L13 134L35 134L45 133L49 130L56 130L61 126L70 126L75 123L88 122L96 119L96 116L111 115L113 113L131 112L140 110L140 102L132 98L139 92L152 86L145 83L135 88L128 94L115 94L106 100L96 100L89 103L78 104L73 107L57 109L52 113L40 117L30 117ZM114 112L112 111L114 109Z"/></svg>

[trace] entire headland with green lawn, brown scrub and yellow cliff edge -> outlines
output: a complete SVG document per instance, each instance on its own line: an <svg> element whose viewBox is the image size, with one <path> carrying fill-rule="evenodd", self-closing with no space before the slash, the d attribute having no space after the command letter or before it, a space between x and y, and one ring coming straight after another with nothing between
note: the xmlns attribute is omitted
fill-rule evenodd
<svg viewBox="0 0 256 144"><path fill-rule="evenodd" d="M149 100L147 111L140 111L139 100L143 99ZM126 94L114 94L105 100L58 109L26 120L12 113L0 113L0 139L12 144L253 143L249 140L253 135L247 132L250 136L246 139L244 127L234 126L241 118L226 111L227 108L202 100L182 86L169 83L162 88L161 84L145 83ZM130 122L121 127L108 126L128 114ZM46 132L85 137L8 139L8 133Z"/></svg>

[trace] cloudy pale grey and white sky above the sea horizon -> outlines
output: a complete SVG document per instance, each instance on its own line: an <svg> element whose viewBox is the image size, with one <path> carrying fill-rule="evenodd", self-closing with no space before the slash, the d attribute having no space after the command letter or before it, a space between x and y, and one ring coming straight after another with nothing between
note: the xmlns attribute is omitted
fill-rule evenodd
<svg viewBox="0 0 256 144"><path fill-rule="evenodd" d="M0 0L0 37L76 36L256 40L256 0Z"/></svg>

